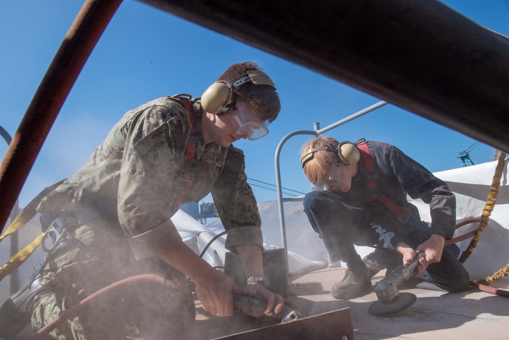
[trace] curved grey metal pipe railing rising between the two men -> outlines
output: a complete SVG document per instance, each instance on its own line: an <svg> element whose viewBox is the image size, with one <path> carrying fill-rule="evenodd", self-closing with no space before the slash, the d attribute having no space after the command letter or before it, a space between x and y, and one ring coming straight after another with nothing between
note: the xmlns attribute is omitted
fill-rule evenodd
<svg viewBox="0 0 509 340"><path fill-rule="evenodd" d="M285 137L283 137L283 139L281 139L281 141L279 142L279 144L277 145L277 148L276 148L276 154L275 154L275 157L274 157L274 167L275 167L275 171L276 171L276 188L277 188L277 207L278 207L278 210L279 210L279 226L280 226L280 229L281 229L281 247L283 249L285 249L285 256L286 256L286 261L287 261L287 270L289 270L290 268L290 265L288 263L288 245L287 245L287 237L286 237L286 224L285 224L285 208L284 208L284 202L290 202L290 201L297 201L297 200L300 200L300 199L296 199L296 198L283 198L282 197L282 186L281 186L281 171L280 171L280 167L279 167L279 156L281 154L281 149L283 147L283 145L285 145L285 143L292 137L294 136L298 136L298 135L312 135L312 136L315 136L317 137L318 135L320 134L323 134L333 128L336 128L338 126L341 126L345 123L348 123L349 121L352 121L356 118L359 118L367 113L370 113L376 109L379 109L385 105L387 105L388 102L386 101L380 101L376 104L373 104L372 106L370 107L367 107L365 108L364 110L361 110L359 112L356 112L354 113L353 115L350 115L346 118L343 118L341 120L338 120L337 122L333 123L333 124L330 124L324 128L320 128L320 123L314 123L314 127L315 127L315 130L297 130L297 131L294 131L288 135L286 135Z"/></svg>

